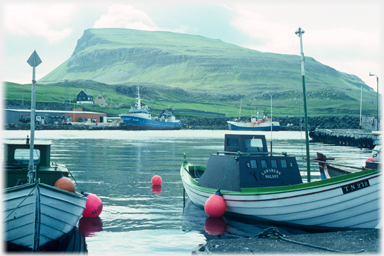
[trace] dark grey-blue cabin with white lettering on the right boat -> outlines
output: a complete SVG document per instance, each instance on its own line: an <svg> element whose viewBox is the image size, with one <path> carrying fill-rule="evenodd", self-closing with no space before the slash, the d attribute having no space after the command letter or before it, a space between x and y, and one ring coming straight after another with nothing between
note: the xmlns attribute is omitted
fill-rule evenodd
<svg viewBox="0 0 384 256"><path fill-rule="evenodd" d="M295 157L268 152L264 135L226 134L224 152L211 155L198 184L240 191L302 183Z"/></svg>

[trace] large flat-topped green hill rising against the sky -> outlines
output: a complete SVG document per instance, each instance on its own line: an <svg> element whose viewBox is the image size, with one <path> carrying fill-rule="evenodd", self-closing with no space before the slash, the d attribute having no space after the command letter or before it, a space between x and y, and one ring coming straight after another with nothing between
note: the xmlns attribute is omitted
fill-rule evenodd
<svg viewBox="0 0 384 256"><path fill-rule="evenodd" d="M306 56L308 109L313 114L358 114L360 89L367 105L376 93L357 76ZM269 108L292 114L301 106L299 55L265 53L221 40L163 31L88 29L72 56L39 83L93 80L107 85L143 85L198 93L194 102ZM149 95L150 96L150 95ZM207 99L204 99L206 97ZM191 101L175 94L175 101ZM369 106L368 106L369 108ZM372 110L374 106L372 106ZM374 113L372 113L374 114Z"/></svg>

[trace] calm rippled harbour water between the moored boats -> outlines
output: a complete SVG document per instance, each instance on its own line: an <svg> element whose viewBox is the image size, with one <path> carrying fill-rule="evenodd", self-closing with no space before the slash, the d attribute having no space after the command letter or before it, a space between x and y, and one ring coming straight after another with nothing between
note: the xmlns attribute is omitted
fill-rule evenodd
<svg viewBox="0 0 384 256"><path fill-rule="evenodd" d="M99 218L81 219L89 254L185 254L208 239L250 237L268 223L224 217L223 233L210 230L207 215L183 198L179 170L183 152L187 160L205 166L209 155L223 150L226 130L179 131L36 131L36 140L51 140L51 159L65 164L78 191L96 194L103 201ZM244 132L242 132L244 133ZM246 132L254 134L255 132ZM305 135L302 132L257 132L272 137L274 152L298 156L306 175ZM4 131L3 139L25 139L29 131ZM335 157L340 164L363 166L371 150L310 144L316 152ZM318 166L311 165L313 179ZM161 188L151 178L160 175ZM276 225L275 225L276 226ZM216 225L217 228L217 225ZM278 227L282 233L303 233Z"/></svg>

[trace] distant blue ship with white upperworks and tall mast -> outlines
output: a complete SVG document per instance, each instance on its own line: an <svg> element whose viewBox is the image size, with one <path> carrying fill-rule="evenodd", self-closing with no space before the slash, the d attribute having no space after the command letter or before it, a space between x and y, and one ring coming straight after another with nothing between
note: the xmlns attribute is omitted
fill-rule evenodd
<svg viewBox="0 0 384 256"><path fill-rule="evenodd" d="M141 105L140 89L137 87L137 103L128 114L120 114L120 118L129 130L179 130L180 120L176 120L171 108L165 109L159 117L152 118L148 106Z"/></svg>

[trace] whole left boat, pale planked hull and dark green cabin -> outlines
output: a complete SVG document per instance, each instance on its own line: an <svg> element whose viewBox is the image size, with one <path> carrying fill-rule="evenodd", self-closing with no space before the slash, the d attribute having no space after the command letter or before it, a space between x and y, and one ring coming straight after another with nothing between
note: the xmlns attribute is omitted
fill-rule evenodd
<svg viewBox="0 0 384 256"><path fill-rule="evenodd" d="M35 177L29 182L29 143L4 143L3 230L9 248L44 251L77 225L87 199L54 186L68 176L64 165L50 162L50 142L34 143Z"/></svg>

